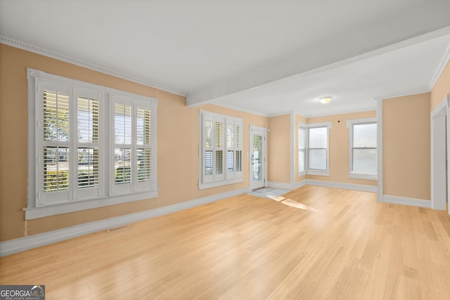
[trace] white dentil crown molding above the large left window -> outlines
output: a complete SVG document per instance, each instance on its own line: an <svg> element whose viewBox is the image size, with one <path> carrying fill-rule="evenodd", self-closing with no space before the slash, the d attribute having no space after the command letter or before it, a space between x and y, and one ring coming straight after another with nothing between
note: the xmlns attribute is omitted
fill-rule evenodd
<svg viewBox="0 0 450 300"><path fill-rule="evenodd" d="M79 67L85 67L86 69L89 69L89 70L94 70L94 71L97 71L97 72L101 72L103 74L108 74L108 75L111 75L111 76L114 76L114 77L118 77L118 78L121 78L121 79L132 81L132 82L134 82L136 84L142 84L144 86L149 86L149 87L154 88L154 89L159 89L161 91L167 91L169 93L174 93L175 95L178 95L178 96L186 97L186 94L181 92L181 91L176 91L174 89L169 89L166 86L161 86L161 85L155 84L153 82L145 81L145 80L133 77L133 76L131 76L129 74L123 74L121 72L116 72L116 71L110 70L110 69L108 69L106 67L101 67L101 66L95 65L93 63L87 63L84 60L79 60L77 58L72 58L70 56L65 56L63 54L60 54L60 53L57 53L57 52L54 52L54 51L50 51L50 50L45 49L45 48L41 48L41 47L38 47L38 46L33 46L31 44L25 43L24 41L18 41L17 39L12 39L12 38L6 37L6 36L4 36L2 34L0 34L0 44L13 46L15 48L20 48L20 49L25 50L25 51L30 51L32 53L37 53L37 54L40 54L42 56L47 56L49 58L55 58L57 60L65 62L65 63L71 63L72 65L78 65Z"/></svg>

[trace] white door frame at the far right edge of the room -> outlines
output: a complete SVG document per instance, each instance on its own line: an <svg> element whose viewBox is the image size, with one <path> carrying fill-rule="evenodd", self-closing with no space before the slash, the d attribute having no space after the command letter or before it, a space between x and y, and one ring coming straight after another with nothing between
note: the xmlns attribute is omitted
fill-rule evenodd
<svg viewBox="0 0 450 300"><path fill-rule="evenodd" d="M448 167L448 159L450 157L449 103L450 94L447 94L439 105L431 112L432 209L446 209L446 203L450 199L450 190L448 188L450 185L450 169ZM444 164L442 163L443 161Z"/></svg>

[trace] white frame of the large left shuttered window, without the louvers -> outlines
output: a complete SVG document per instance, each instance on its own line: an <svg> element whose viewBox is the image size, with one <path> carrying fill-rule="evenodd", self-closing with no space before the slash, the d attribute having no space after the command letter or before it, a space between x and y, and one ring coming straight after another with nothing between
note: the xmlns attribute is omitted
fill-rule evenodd
<svg viewBox="0 0 450 300"><path fill-rule="evenodd" d="M113 204L146 200L158 197L158 182L156 178L156 115L158 100L133 93L118 91L105 86L98 86L84 81L69 79L55 74L49 74L39 70L27 69L28 79L28 201L25 211L25 219L37 219L45 216L65 214L73 211L82 211L97 207L105 207ZM70 92L70 150L77 150L89 143L79 143L77 138L77 98L78 96L94 96L98 98L99 105L99 184L98 188L89 193L78 188L76 176L70 176L70 188L68 200L56 199L53 203L44 201L43 187L43 164L42 151L44 140L42 138L42 93L44 86L68 86ZM80 93L78 93L80 91ZM81 93L83 91L83 93ZM89 93L89 95L85 95ZM138 188L138 184L128 191L117 191L113 189L114 171L114 96L126 98L133 107L143 105L151 110L151 180L147 181L145 188ZM134 129L134 131L136 131ZM134 136L136 133L133 133ZM77 159L75 152L70 154L70 174L77 174ZM133 162L134 163L134 162ZM137 167L136 167L137 168ZM137 178L137 177L136 177ZM136 179L137 180L137 179ZM58 192L56 192L58 193ZM84 196L83 196L84 194ZM56 195L56 194L55 194ZM56 196L58 198L58 196Z"/></svg>

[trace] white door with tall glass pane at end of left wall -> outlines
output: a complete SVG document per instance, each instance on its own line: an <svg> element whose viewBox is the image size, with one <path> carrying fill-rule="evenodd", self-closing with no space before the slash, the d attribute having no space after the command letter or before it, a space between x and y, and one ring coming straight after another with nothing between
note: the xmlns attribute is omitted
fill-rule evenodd
<svg viewBox="0 0 450 300"><path fill-rule="evenodd" d="M250 125L250 188L266 186L267 129Z"/></svg>

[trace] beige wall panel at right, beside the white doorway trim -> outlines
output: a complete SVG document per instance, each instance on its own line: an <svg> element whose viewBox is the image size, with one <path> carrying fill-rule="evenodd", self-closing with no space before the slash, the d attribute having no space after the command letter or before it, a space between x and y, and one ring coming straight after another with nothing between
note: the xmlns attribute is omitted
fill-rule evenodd
<svg viewBox="0 0 450 300"><path fill-rule="evenodd" d="M430 200L430 93L383 100L383 194Z"/></svg>

